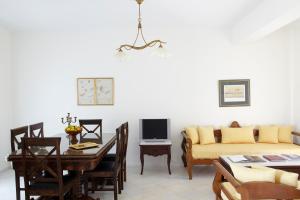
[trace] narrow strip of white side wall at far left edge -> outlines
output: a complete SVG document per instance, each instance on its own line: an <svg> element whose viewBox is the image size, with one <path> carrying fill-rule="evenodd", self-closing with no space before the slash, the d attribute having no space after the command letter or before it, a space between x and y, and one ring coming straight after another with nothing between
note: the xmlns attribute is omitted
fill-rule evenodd
<svg viewBox="0 0 300 200"><path fill-rule="evenodd" d="M8 166L5 156L10 152L11 97L11 35L0 26L0 170Z"/></svg>

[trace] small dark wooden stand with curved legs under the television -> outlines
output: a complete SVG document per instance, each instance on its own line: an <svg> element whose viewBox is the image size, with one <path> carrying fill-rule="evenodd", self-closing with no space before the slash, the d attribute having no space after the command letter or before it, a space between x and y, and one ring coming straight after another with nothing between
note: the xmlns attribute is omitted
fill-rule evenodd
<svg viewBox="0 0 300 200"><path fill-rule="evenodd" d="M141 159L141 175L144 171L144 155L161 156L168 155L168 170L171 175L170 163L171 163L171 141L166 142L140 142L140 159Z"/></svg>

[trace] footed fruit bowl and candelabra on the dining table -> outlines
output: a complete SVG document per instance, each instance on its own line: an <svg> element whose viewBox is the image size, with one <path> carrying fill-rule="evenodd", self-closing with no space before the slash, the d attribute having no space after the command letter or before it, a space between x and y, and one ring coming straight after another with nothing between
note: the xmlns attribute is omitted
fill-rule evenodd
<svg viewBox="0 0 300 200"><path fill-rule="evenodd" d="M61 122L63 124L66 124L66 123L68 124L68 126L65 128L65 132L69 135L69 139L71 140L72 144L78 143L76 135L78 133L82 132L82 128L80 126L71 125L72 123L76 123L76 121L77 121L77 117L74 117L74 120L73 120L73 117L71 117L70 113L68 113L68 115L65 117L65 119L61 118Z"/></svg>

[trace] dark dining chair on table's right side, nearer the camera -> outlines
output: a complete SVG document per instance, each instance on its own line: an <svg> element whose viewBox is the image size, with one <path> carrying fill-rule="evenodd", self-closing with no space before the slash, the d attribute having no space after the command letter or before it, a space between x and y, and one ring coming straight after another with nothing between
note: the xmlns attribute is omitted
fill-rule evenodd
<svg viewBox="0 0 300 200"><path fill-rule="evenodd" d="M88 195L88 191L114 191L114 200L118 199L118 193L121 193L121 166L122 166L122 134L121 127L116 130L116 157L114 162L101 161L98 166L92 171L84 172L84 192ZM88 181L93 179L104 179L102 185L96 182L97 185L91 188L88 187ZM109 181L113 184L106 185ZM99 187L100 186L100 187Z"/></svg>

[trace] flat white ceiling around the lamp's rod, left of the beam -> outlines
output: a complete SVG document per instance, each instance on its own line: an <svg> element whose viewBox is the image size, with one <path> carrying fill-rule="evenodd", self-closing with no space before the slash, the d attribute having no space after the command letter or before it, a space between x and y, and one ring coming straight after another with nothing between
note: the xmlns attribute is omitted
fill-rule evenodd
<svg viewBox="0 0 300 200"><path fill-rule="evenodd" d="M263 0L145 0L147 26L231 28ZM136 25L134 0L0 0L0 24L13 30Z"/></svg>

